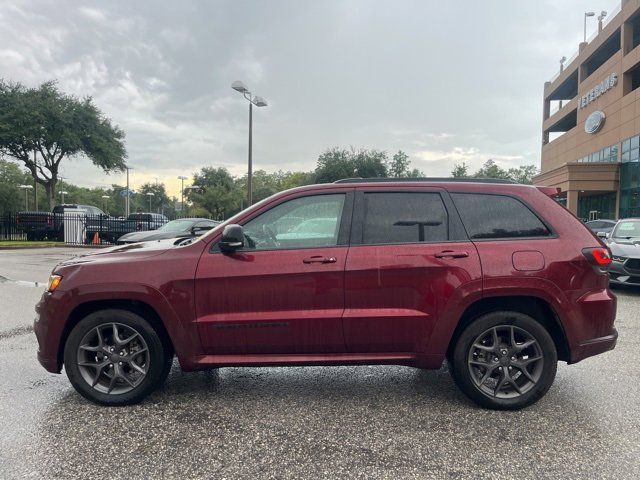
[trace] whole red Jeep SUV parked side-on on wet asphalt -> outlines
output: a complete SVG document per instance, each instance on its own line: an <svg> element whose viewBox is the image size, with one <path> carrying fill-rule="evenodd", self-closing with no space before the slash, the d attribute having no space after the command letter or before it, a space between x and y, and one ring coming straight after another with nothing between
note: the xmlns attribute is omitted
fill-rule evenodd
<svg viewBox="0 0 640 480"><path fill-rule="evenodd" d="M558 360L614 348L608 249L550 195L499 181L342 180L274 195L185 245L59 264L38 358L89 400L138 402L183 370L440 368L517 409Z"/></svg>

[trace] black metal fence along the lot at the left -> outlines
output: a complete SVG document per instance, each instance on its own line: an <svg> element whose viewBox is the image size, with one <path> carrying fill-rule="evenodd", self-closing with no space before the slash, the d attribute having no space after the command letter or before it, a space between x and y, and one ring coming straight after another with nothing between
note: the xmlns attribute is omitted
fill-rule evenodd
<svg viewBox="0 0 640 480"><path fill-rule="evenodd" d="M166 219L143 215L136 219L79 212L20 212L0 215L3 241L54 241L69 245L113 245L130 232L156 230Z"/></svg>

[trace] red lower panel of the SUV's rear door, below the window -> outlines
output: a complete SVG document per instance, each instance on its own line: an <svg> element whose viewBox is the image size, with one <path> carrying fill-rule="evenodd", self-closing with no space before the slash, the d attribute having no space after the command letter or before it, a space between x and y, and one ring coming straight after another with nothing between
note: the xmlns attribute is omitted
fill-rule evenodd
<svg viewBox="0 0 640 480"><path fill-rule="evenodd" d="M468 256L442 257L464 251ZM350 352L425 352L460 286L481 278L471 242L351 247L344 332Z"/></svg>

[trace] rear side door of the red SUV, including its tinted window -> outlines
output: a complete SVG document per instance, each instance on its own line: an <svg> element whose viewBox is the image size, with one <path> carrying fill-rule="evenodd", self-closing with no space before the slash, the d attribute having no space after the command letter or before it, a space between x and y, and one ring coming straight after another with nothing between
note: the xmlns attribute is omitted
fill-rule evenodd
<svg viewBox="0 0 640 480"><path fill-rule="evenodd" d="M444 190L356 194L345 267L347 351L425 352L462 289L481 289L480 261Z"/></svg>

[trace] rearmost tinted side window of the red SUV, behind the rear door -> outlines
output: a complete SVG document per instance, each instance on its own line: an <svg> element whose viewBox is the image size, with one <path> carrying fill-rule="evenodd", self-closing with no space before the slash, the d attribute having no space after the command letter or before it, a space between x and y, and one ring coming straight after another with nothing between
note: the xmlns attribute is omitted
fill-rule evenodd
<svg viewBox="0 0 640 480"><path fill-rule="evenodd" d="M548 237L551 232L524 203L498 194L452 193L469 238Z"/></svg>

